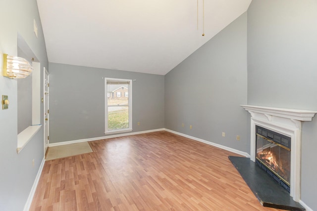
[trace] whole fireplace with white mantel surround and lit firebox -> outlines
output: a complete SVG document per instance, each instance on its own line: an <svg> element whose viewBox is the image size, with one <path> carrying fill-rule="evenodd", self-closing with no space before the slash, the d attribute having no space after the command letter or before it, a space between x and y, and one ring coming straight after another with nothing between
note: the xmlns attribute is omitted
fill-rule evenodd
<svg viewBox="0 0 317 211"><path fill-rule="evenodd" d="M273 174L274 179L288 186L290 196L294 201L299 202L302 122L312 121L317 111L241 106L251 114L250 160L260 163L260 166L268 169L266 172ZM261 134L259 129L262 129ZM271 163L270 155L278 157L275 163ZM281 158L285 157L288 161L283 161L281 164Z"/></svg>

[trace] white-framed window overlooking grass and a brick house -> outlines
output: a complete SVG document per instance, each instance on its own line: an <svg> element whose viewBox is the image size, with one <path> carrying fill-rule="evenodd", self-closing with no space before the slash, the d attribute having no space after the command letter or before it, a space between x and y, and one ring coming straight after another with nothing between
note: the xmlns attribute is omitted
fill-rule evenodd
<svg viewBox="0 0 317 211"><path fill-rule="evenodd" d="M125 98L120 89L128 90ZM117 92L116 92L117 91ZM116 92L117 98L105 97L105 134L132 130L132 80L105 78L105 93ZM127 93L127 94L126 94Z"/></svg>

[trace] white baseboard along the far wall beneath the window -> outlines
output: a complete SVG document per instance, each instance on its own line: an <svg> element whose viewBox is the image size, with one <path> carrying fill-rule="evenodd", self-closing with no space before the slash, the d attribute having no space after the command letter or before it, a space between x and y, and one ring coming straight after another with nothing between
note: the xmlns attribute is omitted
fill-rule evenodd
<svg viewBox="0 0 317 211"><path fill-rule="evenodd" d="M121 134L115 134L115 135L107 135L107 136L96 137L96 138L85 138L85 139L79 139L79 140L73 140L73 141L63 141L63 142L49 144L49 147L66 145L66 144L75 144L75 143L80 143L85 141L97 141L101 139L116 138L116 137L122 137L122 136L128 136L128 135L137 135L137 134L156 132L156 131L162 131L162 130L164 130L164 128L151 129L151 130L145 130L145 131L139 131L139 132L129 132L129 133L123 133L123 134L121 133Z"/></svg>

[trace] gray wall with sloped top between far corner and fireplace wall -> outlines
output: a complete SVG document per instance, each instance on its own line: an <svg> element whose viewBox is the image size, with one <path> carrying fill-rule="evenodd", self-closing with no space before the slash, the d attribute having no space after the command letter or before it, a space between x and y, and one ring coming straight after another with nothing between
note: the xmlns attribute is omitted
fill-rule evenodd
<svg viewBox="0 0 317 211"><path fill-rule="evenodd" d="M246 103L244 13L165 75L165 127L248 152Z"/></svg>

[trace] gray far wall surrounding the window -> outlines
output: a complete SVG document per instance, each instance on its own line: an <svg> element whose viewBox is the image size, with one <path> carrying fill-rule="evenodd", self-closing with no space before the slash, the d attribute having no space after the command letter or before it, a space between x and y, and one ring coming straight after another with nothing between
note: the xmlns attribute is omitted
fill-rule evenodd
<svg viewBox="0 0 317 211"><path fill-rule="evenodd" d="M50 63L50 143L105 136L104 78L136 80L132 132L164 127L164 76Z"/></svg>

